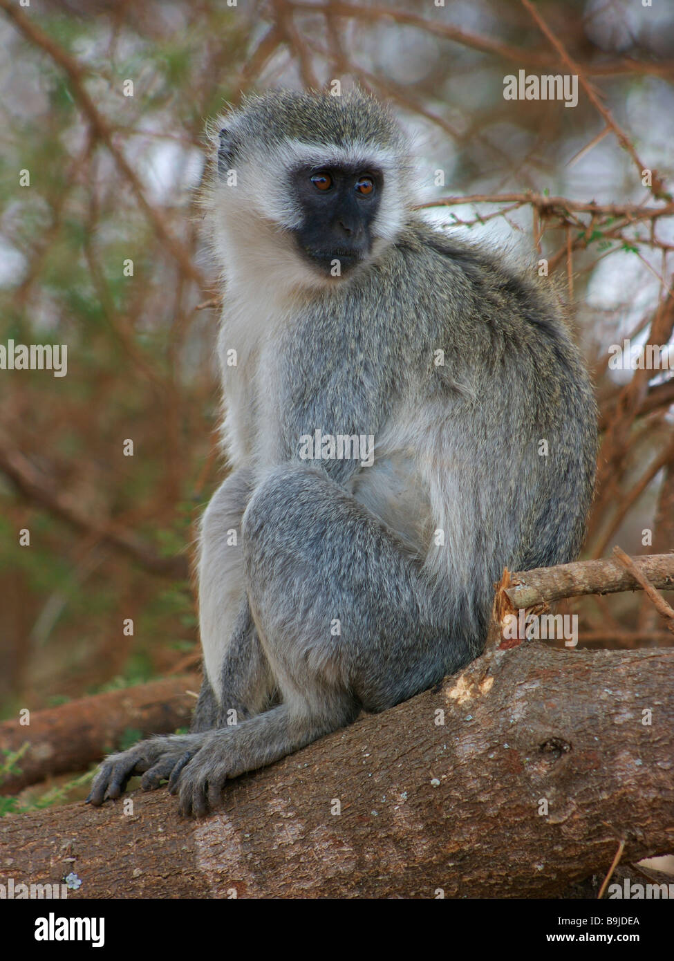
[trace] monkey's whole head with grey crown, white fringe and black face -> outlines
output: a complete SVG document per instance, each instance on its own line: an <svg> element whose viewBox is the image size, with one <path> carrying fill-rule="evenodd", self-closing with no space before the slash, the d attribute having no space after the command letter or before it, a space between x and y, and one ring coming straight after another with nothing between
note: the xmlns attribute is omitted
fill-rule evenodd
<svg viewBox="0 0 674 961"><path fill-rule="evenodd" d="M270 91L220 119L204 199L230 290L244 275L277 301L332 287L403 230L407 140L368 96Z"/></svg>

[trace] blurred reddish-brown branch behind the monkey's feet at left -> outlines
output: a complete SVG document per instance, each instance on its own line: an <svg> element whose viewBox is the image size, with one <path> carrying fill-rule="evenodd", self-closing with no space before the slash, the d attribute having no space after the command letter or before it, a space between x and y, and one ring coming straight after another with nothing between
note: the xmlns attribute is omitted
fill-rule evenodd
<svg viewBox="0 0 674 961"><path fill-rule="evenodd" d="M26 742L30 747L17 761L21 773L0 781L0 795L15 794L48 776L86 770L103 754L118 750L130 730L138 739L188 727L195 700L187 690L200 686L197 675L164 678L35 711L25 727L19 718L3 721L0 748L14 752Z"/></svg>

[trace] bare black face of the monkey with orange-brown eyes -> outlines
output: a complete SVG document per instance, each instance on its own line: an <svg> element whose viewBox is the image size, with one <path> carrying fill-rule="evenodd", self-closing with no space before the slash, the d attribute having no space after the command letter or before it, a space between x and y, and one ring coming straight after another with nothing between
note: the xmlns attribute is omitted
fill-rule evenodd
<svg viewBox="0 0 674 961"><path fill-rule="evenodd" d="M384 186L381 170L303 167L292 177L303 220L293 233L306 259L343 275L372 249L372 224Z"/></svg>

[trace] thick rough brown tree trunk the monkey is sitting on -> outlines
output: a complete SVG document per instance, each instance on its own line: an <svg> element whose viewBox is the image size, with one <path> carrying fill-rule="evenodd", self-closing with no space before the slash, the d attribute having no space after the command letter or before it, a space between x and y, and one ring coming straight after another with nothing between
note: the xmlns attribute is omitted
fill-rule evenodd
<svg viewBox="0 0 674 961"><path fill-rule="evenodd" d="M554 897L674 850L674 652L487 654L435 691L233 782L0 822L0 882L88 898ZM444 723L441 723L444 722ZM650 722L650 723L649 723ZM128 805L128 799L126 800Z"/></svg>

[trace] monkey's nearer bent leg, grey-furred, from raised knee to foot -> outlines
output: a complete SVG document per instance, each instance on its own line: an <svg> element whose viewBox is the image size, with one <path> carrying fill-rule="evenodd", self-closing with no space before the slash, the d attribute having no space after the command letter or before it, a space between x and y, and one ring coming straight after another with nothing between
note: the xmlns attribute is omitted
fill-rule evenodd
<svg viewBox="0 0 674 961"><path fill-rule="evenodd" d="M246 590L283 703L212 731L169 781L183 814L205 814L228 777L412 697L468 659L459 614L418 560L318 469L286 465L242 522ZM463 625L462 625L463 629Z"/></svg>

